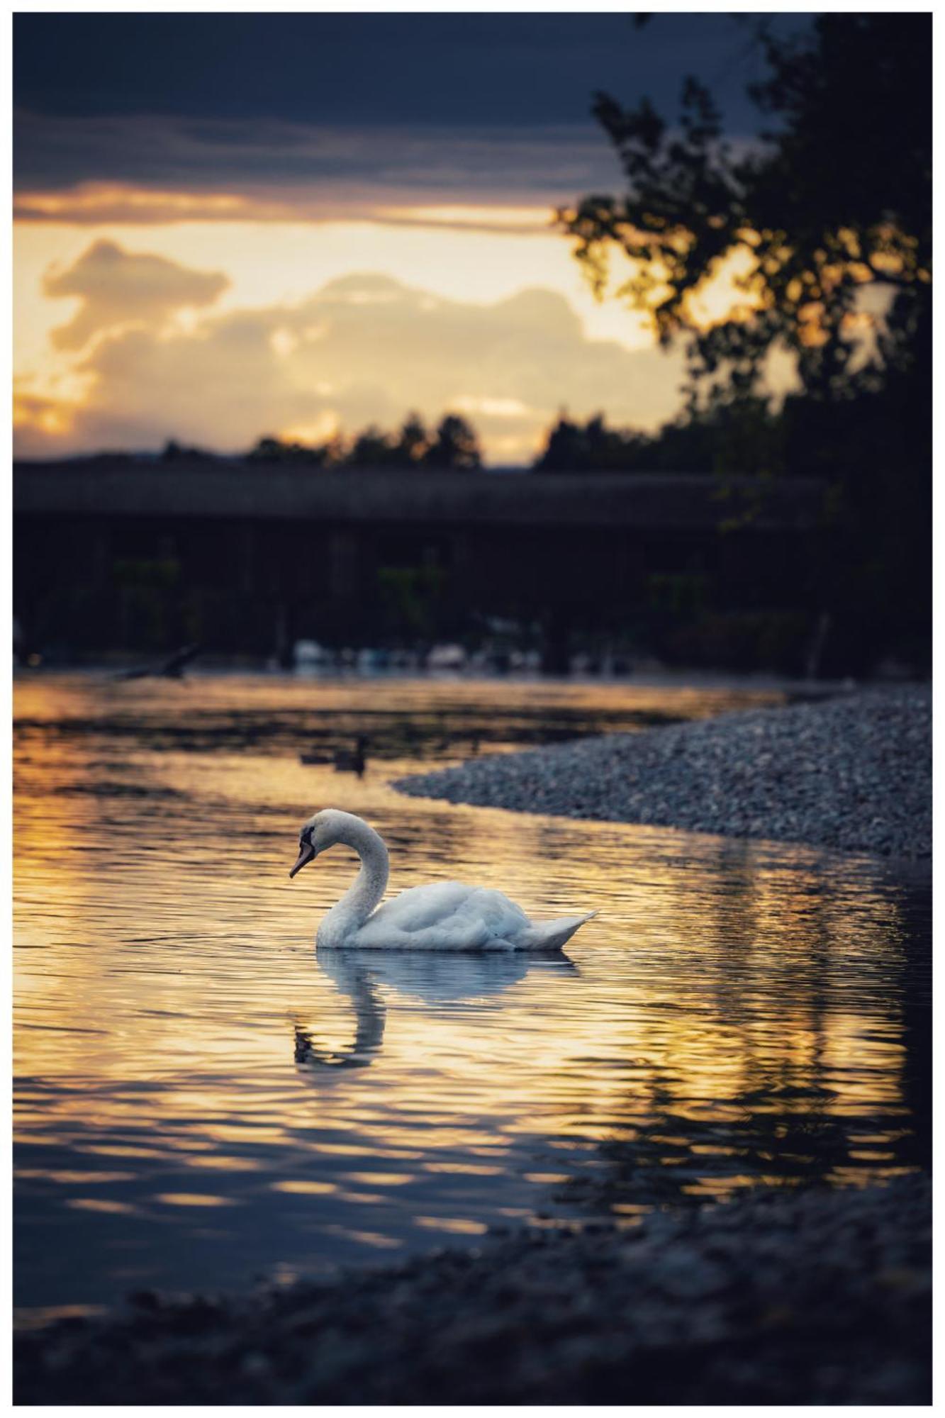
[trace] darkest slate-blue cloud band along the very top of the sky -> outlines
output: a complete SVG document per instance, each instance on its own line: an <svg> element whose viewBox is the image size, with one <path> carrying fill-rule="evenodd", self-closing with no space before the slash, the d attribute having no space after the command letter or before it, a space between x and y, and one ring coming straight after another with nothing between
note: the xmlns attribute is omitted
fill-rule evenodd
<svg viewBox="0 0 945 1418"><path fill-rule="evenodd" d="M712 81L753 130L758 16L17 14L20 106L68 116L179 113L302 123L516 128L585 119L607 89L658 105ZM769 17L770 18L770 17ZM809 16L776 16L783 30Z"/></svg>

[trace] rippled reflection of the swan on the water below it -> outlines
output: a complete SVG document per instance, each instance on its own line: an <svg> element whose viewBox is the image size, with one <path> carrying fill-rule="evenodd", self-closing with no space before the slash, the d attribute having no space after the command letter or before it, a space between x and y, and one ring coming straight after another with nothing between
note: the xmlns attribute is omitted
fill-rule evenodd
<svg viewBox="0 0 945 1418"><path fill-rule="evenodd" d="M578 966L563 950L440 956L429 950L386 953L319 946L315 959L338 991L349 997L355 1011L355 1038L342 1048L329 1048L319 1044L316 1024L295 1018L295 1062L312 1072L366 1068L373 1062L383 1046L387 1018L379 986L448 1011L501 994L531 970L578 974Z"/></svg>

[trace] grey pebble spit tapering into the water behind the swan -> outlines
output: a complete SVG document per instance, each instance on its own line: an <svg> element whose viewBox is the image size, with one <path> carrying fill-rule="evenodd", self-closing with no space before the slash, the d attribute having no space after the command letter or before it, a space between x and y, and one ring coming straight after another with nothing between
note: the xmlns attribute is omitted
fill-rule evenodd
<svg viewBox="0 0 945 1418"><path fill-rule="evenodd" d="M724 715L400 778L414 797L925 859L927 686Z"/></svg>

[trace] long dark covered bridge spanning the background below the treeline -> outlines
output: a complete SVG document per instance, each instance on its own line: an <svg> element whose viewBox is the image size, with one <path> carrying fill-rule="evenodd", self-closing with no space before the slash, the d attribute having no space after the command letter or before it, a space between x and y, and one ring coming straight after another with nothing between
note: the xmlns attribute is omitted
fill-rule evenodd
<svg viewBox="0 0 945 1418"><path fill-rule="evenodd" d="M14 610L61 654L284 658L299 637L471 641L501 621L549 668L595 637L692 662L712 624L800 644L816 620L810 479L105 457L16 464L13 505Z"/></svg>

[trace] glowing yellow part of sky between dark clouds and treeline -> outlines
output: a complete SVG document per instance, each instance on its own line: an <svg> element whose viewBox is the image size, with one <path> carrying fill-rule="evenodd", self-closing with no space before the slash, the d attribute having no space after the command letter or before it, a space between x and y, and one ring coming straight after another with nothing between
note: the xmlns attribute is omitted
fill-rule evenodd
<svg viewBox="0 0 945 1418"><path fill-rule="evenodd" d="M468 417L488 462L529 462L562 408L656 431L680 407L681 357L657 349L644 312L592 295L548 207L216 210L14 224L18 457L167 438L238 452L417 410ZM700 306L711 319L732 298L725 268Z"/></svg>

